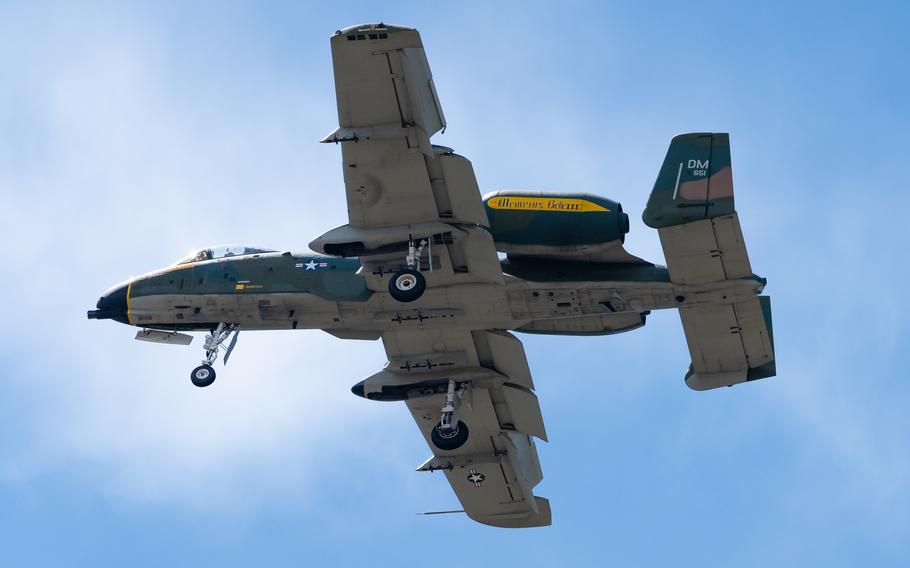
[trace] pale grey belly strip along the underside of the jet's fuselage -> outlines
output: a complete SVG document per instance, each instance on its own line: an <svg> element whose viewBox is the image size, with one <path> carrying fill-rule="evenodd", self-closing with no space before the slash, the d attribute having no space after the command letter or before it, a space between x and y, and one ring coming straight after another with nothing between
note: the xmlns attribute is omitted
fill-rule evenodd
<svg viewBox="0 0 910 568"><path fill-rule="evenodd" d="M326 300L311 293L156 294L130 298L130 323L139 327L208 329L217 322L243 329L324 329L393 331L408 328L470 327L547 333L589 333L604 319L604 330L634 329L614 314L644 314L681 305L743 301L763 282L747 278L712 284L670 282L527 282L507 290L484 284L427 290L419 302L402 304L388 294L367 301ZM597 319L597 318L595 318ZM620 318L621 319L621 318ZM535 325L540 321L578 320L578 324ZM600 320L598 320L599 322ZM620 325L622 324L622 325Z"/></svg>

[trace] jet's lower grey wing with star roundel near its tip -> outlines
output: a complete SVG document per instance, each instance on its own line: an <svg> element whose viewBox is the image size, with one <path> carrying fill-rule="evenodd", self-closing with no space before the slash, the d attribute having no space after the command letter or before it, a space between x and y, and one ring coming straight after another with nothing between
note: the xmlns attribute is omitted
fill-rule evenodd
<svg viewBox="0 0 910 568"><path fill-rule="evenodd" d="M550 504L533 493L543 475L534 438L546 440L521 342L504 331L402 330L382 336L389 362L354 387L374 400L404 400L433 456L418 471L442 471L465 513L498 527L550 524ZM439 423L449 379L467 388L458 419L469 436L441 450Z"/></svg>

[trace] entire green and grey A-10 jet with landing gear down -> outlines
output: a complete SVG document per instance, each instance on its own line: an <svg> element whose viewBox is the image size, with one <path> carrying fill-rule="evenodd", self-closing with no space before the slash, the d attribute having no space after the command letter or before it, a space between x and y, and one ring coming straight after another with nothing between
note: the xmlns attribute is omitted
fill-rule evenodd
<svg viewBox="0 0 910 568"><path fill-rule="evenodd" d="M623 249L628 216L588 194L496 191L430 137L445 118L416 30L371 24L331 38L349 222L319 254L213 247L110 289L89 318L188 344L207 331L197 386L215 380L240 330L322 329L382 339L388 362L351 389L403 401L467 515L550 524L533 494L547 439L521 342L509 330L608 335L679 310L695 390L775 374L765 279L752 273L733 207L726 134L673 138L643 219L667 266ZM497 251L506 255L500 259Z"/></svg>

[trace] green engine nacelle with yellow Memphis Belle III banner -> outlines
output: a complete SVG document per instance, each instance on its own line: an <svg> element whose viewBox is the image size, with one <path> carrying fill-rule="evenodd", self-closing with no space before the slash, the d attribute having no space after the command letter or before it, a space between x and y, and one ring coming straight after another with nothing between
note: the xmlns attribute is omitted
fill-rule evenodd
<svg viewBox="0 0 910 568"><path fill-rule="evenodd" d="M515 256L575 256L625 240L629 216L615 201L587 193L506 190L484 196L496 249Z"/></svg>

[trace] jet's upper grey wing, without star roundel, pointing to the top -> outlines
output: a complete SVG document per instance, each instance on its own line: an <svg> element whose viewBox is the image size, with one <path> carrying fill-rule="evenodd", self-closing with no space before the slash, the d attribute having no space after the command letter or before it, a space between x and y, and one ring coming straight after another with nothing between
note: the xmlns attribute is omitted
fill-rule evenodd
<svg viewBox="0 0 910 568"><path fill-rule="evenodd" d="M353 26L331 39L349 223L310 243L360 257L365 274L401 267L409 239L427 240L428 284L498 282L502 271L470 161L430 137L445 118L417 30ZM368 282L380 289L380 282Z"/></svg>

